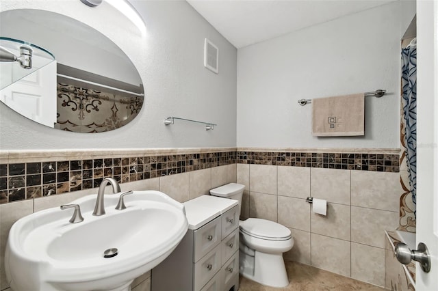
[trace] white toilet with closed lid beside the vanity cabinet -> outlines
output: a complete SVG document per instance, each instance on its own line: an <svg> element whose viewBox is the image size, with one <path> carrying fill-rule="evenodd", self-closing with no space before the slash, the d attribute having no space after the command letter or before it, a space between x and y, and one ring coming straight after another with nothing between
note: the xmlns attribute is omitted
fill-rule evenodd
<svg viewBox="0 0 438 291"><path fill-rule="evenodd" d="M230 183L210 190L210 194L239 201L245 186ZM290 230L274 221L249 218L240 221L240 274L244 277L272 287L285 287L289 284L283 261L283 253L294 246Z"/></svg>

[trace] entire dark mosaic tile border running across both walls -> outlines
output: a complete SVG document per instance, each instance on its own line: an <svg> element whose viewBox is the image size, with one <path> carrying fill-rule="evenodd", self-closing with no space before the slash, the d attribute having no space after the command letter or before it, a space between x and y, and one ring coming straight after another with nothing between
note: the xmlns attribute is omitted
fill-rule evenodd
<svg viewBox="0 0 438 291"><path fill-rule="evenodd" d="M44 158L38 154L34 158L26 158L26 153L23 153L23 159L19 160L16 160L19 153L14 153L14 157L8 160L3 158L9 163L0 164L0 204L96 188L107 177L126 183L234 163L399 171L398 154L372 154L371 150L363 150L367 152L365 154L333 151L336 152L242 151L227 148L223 151L216 149L205 152L205 149L198 149L197 153L192 153L193 150L179 153L175 149L172 154L151 155L145 150L144 155L136 151L135 155L119 153L124 156L118 157L115 152L105 155L96 150L94 154L89 152L82 158L66 153L61 161L60 156L47 157L46 151Z"/></svg>

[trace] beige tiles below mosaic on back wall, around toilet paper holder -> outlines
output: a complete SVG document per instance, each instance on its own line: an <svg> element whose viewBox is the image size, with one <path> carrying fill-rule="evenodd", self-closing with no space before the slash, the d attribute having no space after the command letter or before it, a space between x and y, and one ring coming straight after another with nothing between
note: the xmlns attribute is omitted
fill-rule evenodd
<svg viewBox="0 0 438 291"><path fill-rule="evenodd" d="M399 180L397 172L237 164L242 215L289 227L295 243L286 259L378 286L385 230L399 224ZM312 212L308 196L327 200L325 217Z"/></svg>

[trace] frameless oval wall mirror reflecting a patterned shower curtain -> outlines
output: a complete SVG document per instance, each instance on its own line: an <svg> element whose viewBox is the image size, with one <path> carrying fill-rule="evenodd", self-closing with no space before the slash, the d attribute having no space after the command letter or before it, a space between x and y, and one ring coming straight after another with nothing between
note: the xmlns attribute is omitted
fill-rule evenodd
<svg viewBox="0 0 438 291"><path fill-rule="evenodd" d="M140 112L140 74L96 29L34 9L1 12L0 27L0 100L21 115L52 128L100 133Z"/></svg>

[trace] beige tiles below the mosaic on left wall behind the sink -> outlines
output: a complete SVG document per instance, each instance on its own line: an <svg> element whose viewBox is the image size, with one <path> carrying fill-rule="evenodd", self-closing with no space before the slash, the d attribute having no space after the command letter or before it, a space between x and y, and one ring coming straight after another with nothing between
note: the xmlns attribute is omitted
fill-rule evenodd
<svg viewBox="0 0 438 291"><path fill-rule="evenodd" d="M150 178L147 180L137 180L120 184L122 191L129 190L158 190L166 193L179 202L185 202L198 196L209 193L209 189L222 184L236 182L236 165L222 165L207 169L199 169L187 173L174 174ZM4 273L4 253L6 239L12 224L32 212L44 210L96 193L96 189L86 189L74 191L68 195L51 195L40 199L25 199L18 202L0 205L0 290L9 287ZM25 278L23 278L25 279ZM133 291L150 290L150 273L139 277L133 283ZM8 290L9 291L9 290Z"/></svg>

